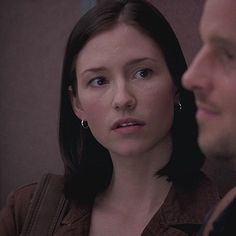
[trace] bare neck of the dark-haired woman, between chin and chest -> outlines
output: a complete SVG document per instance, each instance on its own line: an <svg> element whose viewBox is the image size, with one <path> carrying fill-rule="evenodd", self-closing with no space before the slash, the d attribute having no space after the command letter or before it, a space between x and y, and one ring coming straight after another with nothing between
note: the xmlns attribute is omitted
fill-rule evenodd
<svg viewBox="0 0 236 236"><path fill-rule="evenodd" d="M166 198L171 183L166 177L156 176L156 172L169 161L171 142L144 154L119 156L112 154L113 176L107 191L100 200L106 204L123 206L124 210L133 206L145 210L161 205ZM99 198L98 198L99 200Z"/></svg>

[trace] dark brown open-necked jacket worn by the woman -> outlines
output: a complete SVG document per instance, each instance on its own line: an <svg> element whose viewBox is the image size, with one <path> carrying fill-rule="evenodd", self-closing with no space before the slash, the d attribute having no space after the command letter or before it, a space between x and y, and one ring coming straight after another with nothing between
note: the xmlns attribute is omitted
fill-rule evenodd
<svg viewBox="0 0 236 236"><path fill-rule="evenodd" d="M20 187L9 196L6 207L0 213L1 236L20 235L35 187L36 184ZM203 179L194 192L184 192L172 186L142 236L197 235L206 213L218 200L218 192L207 178ZM76 207L70 204L55 235L89 235L91 212L92 206Z"/></svg>

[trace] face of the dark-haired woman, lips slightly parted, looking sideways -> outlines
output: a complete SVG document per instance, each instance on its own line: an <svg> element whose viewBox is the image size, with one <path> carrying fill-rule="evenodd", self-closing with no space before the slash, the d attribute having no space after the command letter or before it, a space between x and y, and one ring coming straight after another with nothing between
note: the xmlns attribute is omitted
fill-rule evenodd
<svg viewBox="0 0 236 236"><path fill-rule="evenodd" d="M170 140L175 87L160 48L118 24L84 46L76 60L76 115L111 154L151 152Z"/></svg>

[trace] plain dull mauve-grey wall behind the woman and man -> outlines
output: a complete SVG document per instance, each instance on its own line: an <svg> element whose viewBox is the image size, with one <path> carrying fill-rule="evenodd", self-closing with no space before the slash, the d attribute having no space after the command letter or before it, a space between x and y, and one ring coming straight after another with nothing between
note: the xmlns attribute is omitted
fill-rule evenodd
<svg viewBox="0 0 236 236"><path fill-rule="evenodd" d="M176 30L188 62L200 47L203 1L152 0ZM1 0L0 206L17 186L45 172L63 173L57 143L62 56L74 23L94 2ZM223 191L232 185L232 171L225 176L215 164L205 169Z"/></svg>

